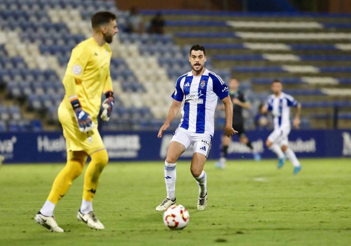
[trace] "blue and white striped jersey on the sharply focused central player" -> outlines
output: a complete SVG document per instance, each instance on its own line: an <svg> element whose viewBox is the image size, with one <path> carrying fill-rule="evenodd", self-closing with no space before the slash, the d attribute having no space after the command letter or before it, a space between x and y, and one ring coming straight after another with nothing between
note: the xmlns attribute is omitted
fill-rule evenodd
<svg viewBox="0 0 351 246"><path fill-rule="evenodd" d="M193 76L192 71L180 76L172 95L174 100L185 101L179 127L213 136L217 97L223 99L228 95L228 86L207 69L201 76Z"/></svg>

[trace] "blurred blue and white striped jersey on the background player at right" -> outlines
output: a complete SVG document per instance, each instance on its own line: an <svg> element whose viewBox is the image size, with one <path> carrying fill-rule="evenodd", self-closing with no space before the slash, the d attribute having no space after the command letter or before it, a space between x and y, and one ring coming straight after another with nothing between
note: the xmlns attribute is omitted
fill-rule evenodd
<svg viewBox="0 0 351 246"><path fill-rule="evenodd" d="M290 107L296 107L298 102L290 95L282 92L279 97L274 94L268 97L267 107L272 112L274 129L291 128Z"/></svg>

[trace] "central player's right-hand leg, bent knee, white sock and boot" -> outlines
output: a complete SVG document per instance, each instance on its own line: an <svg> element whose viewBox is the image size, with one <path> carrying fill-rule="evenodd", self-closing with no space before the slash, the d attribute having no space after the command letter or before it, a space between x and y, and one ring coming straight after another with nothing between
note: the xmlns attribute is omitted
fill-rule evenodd
<svg viewBox="0 0 351 246"><path fill-rule="evenodd" d="M198 210L205 210L207 207L207 175L204 171L206 156L195 152L191 161L190 171L199 186Z"/></svg>

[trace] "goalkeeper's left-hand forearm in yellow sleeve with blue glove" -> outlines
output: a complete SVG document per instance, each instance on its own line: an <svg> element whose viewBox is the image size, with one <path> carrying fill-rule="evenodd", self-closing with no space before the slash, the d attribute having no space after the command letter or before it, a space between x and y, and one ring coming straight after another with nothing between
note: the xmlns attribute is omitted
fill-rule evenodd
<svg viewBox="0 0 351 246"><path fill-rule="evenodd" d="M95 125L94 122L92 122L91 116L82 109L79 102L77 90L75 89L75 78L70 75L65 75L62 83L64 84L66 95L72 104L79 131L90 131Z"/></svg>

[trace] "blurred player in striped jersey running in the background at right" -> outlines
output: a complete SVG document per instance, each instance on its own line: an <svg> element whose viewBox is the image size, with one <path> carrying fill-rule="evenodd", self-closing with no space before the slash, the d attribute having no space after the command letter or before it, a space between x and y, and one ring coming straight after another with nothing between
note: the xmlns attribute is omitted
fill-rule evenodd
<svg viewBox="0 0 351 246"><path fill-rule="evenodd" d="M297 174L301 170L300 162L297 160L294 151L289 148L288 135L290 133L290 107L297 108L293 125L298 128L300 125L301 104L292 96L284 93L282 82L275 79L271 89L273 94L268 97L263 111L270 111L273 115L274 130L266 140L267 147L277 154L279 158L278 169L282 168L286 157L294 166L293 173Z"/></svg>

